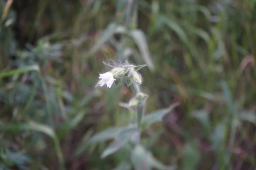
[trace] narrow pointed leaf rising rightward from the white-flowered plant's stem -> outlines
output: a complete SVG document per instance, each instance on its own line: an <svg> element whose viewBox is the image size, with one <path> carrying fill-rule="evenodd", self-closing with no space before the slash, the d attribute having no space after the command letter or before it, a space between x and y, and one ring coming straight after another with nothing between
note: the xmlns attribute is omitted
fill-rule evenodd
<svg viewBox="0 0 256 170"><path fill-rule="evenodd" d="M150 126L151 124L153 124L155 122L161 121L163 116L165 116L167 113L172 111L178 105L180 105L180 103L176 102L176 103L170 105L169 108L160 109L160 110L155 111L153 113L149 113L142 120L143 127L146 128L146 127Z"/></svg>

